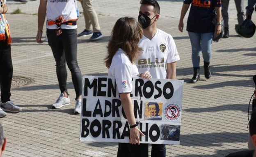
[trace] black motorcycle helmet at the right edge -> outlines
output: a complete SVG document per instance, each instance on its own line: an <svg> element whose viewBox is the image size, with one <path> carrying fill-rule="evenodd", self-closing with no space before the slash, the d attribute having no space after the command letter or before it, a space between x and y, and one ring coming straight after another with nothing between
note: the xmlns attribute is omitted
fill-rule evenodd
<svg viewBox="0 0 256 157"><path fill-rule="evenodd" d="M251 38L254 35L255 30L256 26L250 19L245 19L242 25L235 25L235 31L241 37Z"/></svg>

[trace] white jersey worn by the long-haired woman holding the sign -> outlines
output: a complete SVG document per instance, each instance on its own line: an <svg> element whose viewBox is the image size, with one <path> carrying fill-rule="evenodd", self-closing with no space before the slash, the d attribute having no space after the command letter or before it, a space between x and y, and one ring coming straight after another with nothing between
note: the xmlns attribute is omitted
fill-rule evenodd
<svg viewBox="0 0 256 157"><path fill-rule="evenodd" d="M137 66L130 62L126 52L118 49L108 69L108 75L115 77L119 93L130 93L133 88L132 79L139 77L139 71Z"/></svg>

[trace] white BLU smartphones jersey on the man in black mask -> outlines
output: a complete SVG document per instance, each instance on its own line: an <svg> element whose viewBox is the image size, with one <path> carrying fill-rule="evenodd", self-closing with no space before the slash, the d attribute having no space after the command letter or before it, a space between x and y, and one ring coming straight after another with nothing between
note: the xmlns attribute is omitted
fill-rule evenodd
<svg viewBox="0 0 256 157"><path fill-rule="evenodd" d="M143 49L137 62L139 73L149 71L153 78L166 79L166 63L180 60L174 39L160 29L151 40L143 35L139 46Z"/></svg>

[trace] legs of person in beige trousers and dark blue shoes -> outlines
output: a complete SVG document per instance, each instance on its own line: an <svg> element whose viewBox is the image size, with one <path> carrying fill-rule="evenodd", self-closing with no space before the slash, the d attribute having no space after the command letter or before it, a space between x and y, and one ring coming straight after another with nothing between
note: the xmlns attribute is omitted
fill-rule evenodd
<svg viewBox="0 0 256 157"><path fill-rule="evenodd" d="M78 37L92 35L90 40L98 40L103 37L101 27L98 22L97 13L92 7L92 0L81 0L84 18L85 30L78 34Z"/></svg>

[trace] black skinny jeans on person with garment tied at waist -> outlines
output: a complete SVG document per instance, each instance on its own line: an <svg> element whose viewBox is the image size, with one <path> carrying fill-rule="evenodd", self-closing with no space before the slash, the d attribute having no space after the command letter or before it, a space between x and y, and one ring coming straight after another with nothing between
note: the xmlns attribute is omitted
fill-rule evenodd
<svg viewBox="0 0 256 157"><path fill-rule="evenodd" d="M62 29L62 34L56 35L55 29L46 31L48 43L53 51L56 62L56 73L61 93L66 92L67 70L71 71L76 98L82 95L82 74L77 62L77 29Z"/></svg>

